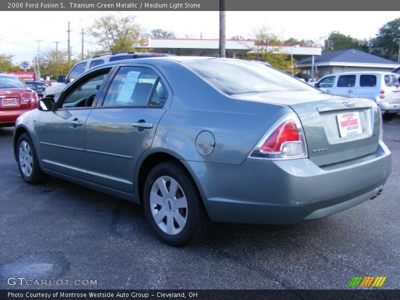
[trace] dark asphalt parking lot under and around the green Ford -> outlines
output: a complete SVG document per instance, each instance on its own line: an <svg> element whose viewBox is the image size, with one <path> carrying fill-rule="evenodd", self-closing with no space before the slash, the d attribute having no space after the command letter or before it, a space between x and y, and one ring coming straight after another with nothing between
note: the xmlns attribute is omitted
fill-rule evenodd
<svg viewBox="0 0 400 300"><path fill-rule="evenodd" d="M50 177L28 185L0 128L0 288L7 278L96 280L66 288L346 288L352 276L387 276L400 288L400 115L384 123L393 154L383 193L296 225L214 224L200 244L158 241L143 208ZM334 182L332 182L334 184Z"/></svg>

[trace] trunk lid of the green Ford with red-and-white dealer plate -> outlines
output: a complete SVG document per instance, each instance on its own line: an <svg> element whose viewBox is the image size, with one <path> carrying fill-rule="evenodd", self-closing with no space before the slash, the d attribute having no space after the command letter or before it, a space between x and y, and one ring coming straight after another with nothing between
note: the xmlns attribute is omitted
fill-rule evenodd
<svg viewBox="0 0 400 300"><path fill-rule="evenodd" d="M290 106L303 126L308 157L316 165L345 161L377 150L380 115L372 100L314 91L241 94L236 97ZM349 133L352 133L357 126L354 119L358 120L358 132L351 135L340 133L339 127L351 127Z"/></svg>

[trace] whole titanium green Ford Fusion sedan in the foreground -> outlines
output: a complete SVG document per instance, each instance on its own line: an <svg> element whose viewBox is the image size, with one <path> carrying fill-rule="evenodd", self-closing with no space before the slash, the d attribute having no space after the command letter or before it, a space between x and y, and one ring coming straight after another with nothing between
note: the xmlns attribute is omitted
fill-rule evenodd
<svg viewBox="0 0 400 300"><path fill-rule="evenodd" d="M257 62L122 60L20 116L31 184L57 176L144 205L184 245L211 221L289 224L378 195L391 167L375 102L324 94Z"/></svg>

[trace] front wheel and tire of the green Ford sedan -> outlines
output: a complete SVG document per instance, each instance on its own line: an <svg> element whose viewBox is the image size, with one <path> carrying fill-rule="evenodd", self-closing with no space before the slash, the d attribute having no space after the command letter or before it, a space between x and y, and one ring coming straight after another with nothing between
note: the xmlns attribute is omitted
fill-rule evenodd
<svg viewBox="0 0 400 300"><path fill-rule="evenodd" d="M22 179L29 184L43 183L48 174L41 171L33 142L27 133L22 133L16 144L16 159Z"/></svg>

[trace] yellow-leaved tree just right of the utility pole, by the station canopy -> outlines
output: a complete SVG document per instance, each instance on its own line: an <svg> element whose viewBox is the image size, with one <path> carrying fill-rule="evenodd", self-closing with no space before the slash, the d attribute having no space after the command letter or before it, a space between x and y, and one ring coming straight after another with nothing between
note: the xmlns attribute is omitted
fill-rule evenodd
<svg viewBox="0 0 400 300"><path fill-rule="evenodd" d="M247 55L248 59L267 61L275 68L291 72L290 55L279 53L281 42L276 34L269 32L266 27L254 30L254 44L255 48Z"/></svg>

